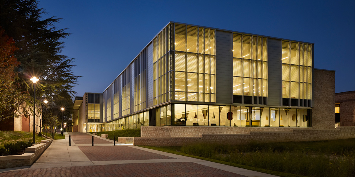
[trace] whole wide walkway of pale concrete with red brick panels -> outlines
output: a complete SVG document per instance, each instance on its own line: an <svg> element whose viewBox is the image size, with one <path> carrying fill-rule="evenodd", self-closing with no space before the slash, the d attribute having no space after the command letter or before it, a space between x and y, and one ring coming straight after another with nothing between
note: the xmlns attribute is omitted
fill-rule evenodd
<svg viewBox="0 0 355 177"><path fill-rule="evenodd" d="M71 146L69 146L71 135ZM236 176L276 177L266 173L241 169L201 159L170 154L158 150L122 144L89 133L65 133L65 139L55 140L27 170L1 171L1 176L28 176L42 173L56 176L59 170L67 176ZM97 144L95 143L97 142ZM102 171L107 169L106 171ZM8 169L11 170L11 169ZM30 172L31 171L31 172ZM53 172L53 173L52 173ZM95 175L93 175L93 173Z"/></svg>

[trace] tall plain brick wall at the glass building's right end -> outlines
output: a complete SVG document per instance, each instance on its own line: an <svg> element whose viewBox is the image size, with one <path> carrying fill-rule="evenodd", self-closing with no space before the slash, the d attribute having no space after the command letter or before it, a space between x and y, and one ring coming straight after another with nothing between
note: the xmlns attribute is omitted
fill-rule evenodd
<svg viewBox="0 0 355 177"><path fill-rule="evenodd" d="M335 71L314 69L313 129L335 129Z"/></svg>

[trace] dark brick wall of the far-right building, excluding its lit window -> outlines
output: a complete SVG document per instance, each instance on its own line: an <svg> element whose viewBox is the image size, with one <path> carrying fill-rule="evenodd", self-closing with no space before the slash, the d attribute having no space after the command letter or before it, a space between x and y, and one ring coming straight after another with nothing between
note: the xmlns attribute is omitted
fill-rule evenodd
<svg viewBox="0 0 355 177"><path fill-rule="evenodd" d="M355 121L355 91L335 93L335 103L340 103L340 122Z"/></svg>

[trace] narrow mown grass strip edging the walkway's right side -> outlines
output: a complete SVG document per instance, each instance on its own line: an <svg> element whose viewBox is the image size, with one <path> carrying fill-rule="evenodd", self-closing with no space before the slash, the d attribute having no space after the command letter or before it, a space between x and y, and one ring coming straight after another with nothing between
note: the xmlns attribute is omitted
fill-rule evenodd
<svg viewBox="0 0 355 177"><path fill-rule="evenodd" d="M284 173L284 172L278 172L278 171L272 171L272 170L266 170L266 169L259 169L259 168L256 168L256 167L240 165L240 164L235 164L235 163L225 162L225 161L220 161L220 160L208 159L208 158L203 158L203 157L200 157L200 156L195 156L195 155L190 155L190 154L177 152L176 150L179 150L180 147L155 147L155 146L146 146L146 145L138 145L138 146L142 147L142 148L148 148L148 149L154 149L154 150L163 151L163 152L166 152L166 153L171 153L171 154L176 154L176 155L183 155L183 156L187 156L187 157L191 157L191 158L207 160L207 161L216 162L216 163L219 163L219 164L239 167L239 168L242 168L242 169L258 171L258 172L267 173L267 174L270 174L270 175L283 176L283 177L306 177L306 176L294 175L294 174L290 174L290 173Z"/></svg>

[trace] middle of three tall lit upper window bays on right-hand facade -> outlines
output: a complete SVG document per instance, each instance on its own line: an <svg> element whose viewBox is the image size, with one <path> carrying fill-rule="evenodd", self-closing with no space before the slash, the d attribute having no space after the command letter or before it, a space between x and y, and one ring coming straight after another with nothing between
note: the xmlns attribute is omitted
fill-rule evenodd
<svg viewBox="0 0 355 177"><path fill-rule="evenodd" d="M233 33L234 103L267 104L267 38Z"/></svg>

